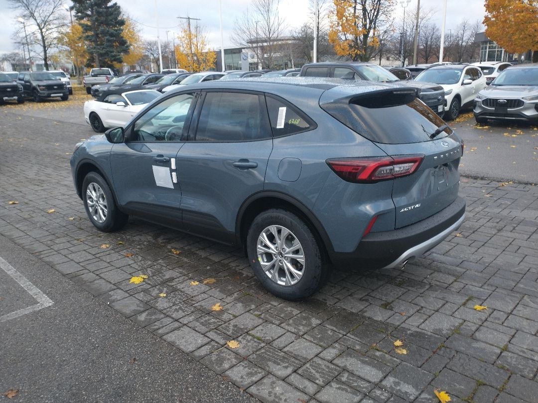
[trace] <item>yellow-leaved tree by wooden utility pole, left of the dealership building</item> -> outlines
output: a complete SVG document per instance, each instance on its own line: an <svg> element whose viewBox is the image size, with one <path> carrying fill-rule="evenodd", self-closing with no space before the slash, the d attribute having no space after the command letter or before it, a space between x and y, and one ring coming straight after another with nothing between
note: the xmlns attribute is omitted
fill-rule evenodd
<svg viewBox="0 0 538 403"><path fill-rule="evenodd" d="M188 23L182 24L176 39L175 57L180 68L195 73L215 67L217 55L209 51L207 37L200 26L193 28Z"/></svg>

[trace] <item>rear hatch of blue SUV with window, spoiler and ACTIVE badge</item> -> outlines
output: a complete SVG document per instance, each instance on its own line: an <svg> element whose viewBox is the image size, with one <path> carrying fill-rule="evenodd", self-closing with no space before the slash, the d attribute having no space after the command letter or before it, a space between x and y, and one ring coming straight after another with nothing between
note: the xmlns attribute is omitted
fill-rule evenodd
<svg viewBox="0 0 538 403"><path fill-rule="evenodd" d="M394 228L428 218L454 202L463 142L416 99L416 90L394 86L339 99L329 92L321 96L320 106L332 117L376 143L395 161L420 158L412 174L389 178Z"/></svg>

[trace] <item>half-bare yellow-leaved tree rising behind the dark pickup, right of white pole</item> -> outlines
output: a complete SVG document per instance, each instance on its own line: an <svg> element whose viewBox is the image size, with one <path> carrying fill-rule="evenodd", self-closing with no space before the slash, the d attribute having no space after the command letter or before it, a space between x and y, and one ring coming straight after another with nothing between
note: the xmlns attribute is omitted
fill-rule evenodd
<svg viewBox="0 0 538 403"><path fill-rule="evenodd" d="M379 46L378 33L390 18L395 0L334 0L329 42L338 56L369 61Z"/></svg>

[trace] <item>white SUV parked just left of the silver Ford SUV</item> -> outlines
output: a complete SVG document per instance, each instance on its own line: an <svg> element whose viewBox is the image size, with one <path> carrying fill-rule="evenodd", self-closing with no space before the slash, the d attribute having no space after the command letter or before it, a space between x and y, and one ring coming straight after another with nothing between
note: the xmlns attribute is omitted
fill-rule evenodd
<svg viewBox="0 0 538 403"><path fill-rule="evenodd" d="M436 83L444 88L445 120L454 120L462 108L471 107L477 93L486 87L482 70L470 64L432 66L422 71L415 81Z"/></svg>

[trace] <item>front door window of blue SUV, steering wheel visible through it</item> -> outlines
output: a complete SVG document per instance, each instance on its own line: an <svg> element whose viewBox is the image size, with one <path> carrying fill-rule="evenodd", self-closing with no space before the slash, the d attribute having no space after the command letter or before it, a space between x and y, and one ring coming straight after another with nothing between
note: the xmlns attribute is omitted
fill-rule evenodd
<svg viewBox="0 0 538 403"><path fill-rule="evenodd" d="M131 141L185 141L195 93L182 93L152 107L133 126ZM187 124L186 124L187 123Z"/></svg>

